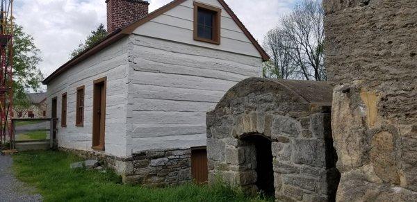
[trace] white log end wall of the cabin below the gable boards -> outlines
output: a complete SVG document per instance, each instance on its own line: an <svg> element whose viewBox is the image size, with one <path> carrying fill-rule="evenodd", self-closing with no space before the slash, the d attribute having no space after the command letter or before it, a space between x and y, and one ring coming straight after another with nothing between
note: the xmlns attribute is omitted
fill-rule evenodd
<svg viewBox="0 0 417 202"><path fill-rule="evenodd" d="M239 81L261 76L261 64L261 58L131 35L128 152L205 146L206 112Z"/></svg>

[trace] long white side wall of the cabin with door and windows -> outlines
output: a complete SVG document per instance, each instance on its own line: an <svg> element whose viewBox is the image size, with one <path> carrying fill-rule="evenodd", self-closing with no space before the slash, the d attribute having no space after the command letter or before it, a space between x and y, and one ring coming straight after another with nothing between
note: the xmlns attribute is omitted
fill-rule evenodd
<svg viewBox="0 0 417 202"><path fill-rule="evenodd" d="M58 122L58 145L91 151L93 81L107 76L106 153L126 156L127 41L125 38L75 65L48 85L48 117L51 99L58 98L61 117L62 94L67 92L67 127ZM84 126L75 126L76 88L85 85Z"/></svg>

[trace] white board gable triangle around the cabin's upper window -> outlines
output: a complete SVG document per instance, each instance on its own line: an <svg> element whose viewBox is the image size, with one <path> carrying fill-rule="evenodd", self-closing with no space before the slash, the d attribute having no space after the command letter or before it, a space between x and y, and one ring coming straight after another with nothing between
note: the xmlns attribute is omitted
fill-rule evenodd
<svg viewBox="0 0 417 202"><path fill-rule="evenodd" d="M193 0L188 0L181 3L179 6L139 26L133 33L261 58L261 54L254 47L254 44L250 42L250 39L217 0L200 0L197 2L222 9L220 45L195 41L193 37L193 2Z"/></svg>

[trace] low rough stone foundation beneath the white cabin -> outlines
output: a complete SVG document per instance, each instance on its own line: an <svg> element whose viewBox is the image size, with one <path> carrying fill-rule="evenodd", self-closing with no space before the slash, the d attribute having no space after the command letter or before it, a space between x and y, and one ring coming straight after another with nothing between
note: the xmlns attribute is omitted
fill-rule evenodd
<svg viewBox="0 0 417 202"><path fill-rule="evenodd" d="M97 151L83 151L60 147L82 158L95 158L101 165L115 169L124 183L152 187L179 185L190 182L190 149L149 150L134 153L129 158L119 158Z"/></svg>

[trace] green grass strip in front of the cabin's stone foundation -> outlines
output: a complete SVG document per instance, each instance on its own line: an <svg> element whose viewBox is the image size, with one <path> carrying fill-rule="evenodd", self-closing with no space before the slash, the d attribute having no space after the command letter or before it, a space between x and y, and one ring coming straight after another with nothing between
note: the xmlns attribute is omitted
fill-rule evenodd
<svg viewBox="0 0 417 202"><path fill-rule="evenodd" d="M17 178L35 186L44 201L264 201L222 183L166 188L122 185L110 170L70 169L70 163L81 159L57 151L17 153L13 160Z"/></svg>

